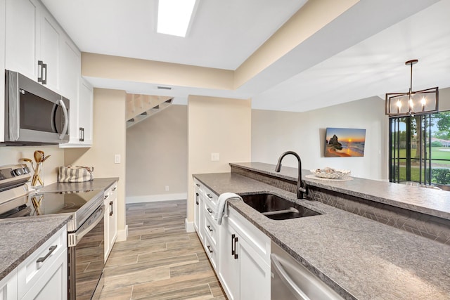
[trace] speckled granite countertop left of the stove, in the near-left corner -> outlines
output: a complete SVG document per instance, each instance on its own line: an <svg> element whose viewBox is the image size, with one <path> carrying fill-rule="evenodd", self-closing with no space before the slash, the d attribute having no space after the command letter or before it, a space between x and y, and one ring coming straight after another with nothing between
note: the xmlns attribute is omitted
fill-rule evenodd
<svg viewBox="0 0 450 300"><path fill-rule="evenodd" d="M70 214L0 219L0 280L72 218Z"/></svg>

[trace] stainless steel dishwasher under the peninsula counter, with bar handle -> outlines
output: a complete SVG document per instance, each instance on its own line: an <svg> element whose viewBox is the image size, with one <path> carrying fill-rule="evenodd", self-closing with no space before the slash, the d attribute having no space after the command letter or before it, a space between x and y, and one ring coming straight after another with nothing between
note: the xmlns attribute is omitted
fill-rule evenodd
<svg viewBox="0 0 450 300"><path fill-rule="evenodd" d="M274 242L271 242L271 273L272 300L343 300Z"/></svg>

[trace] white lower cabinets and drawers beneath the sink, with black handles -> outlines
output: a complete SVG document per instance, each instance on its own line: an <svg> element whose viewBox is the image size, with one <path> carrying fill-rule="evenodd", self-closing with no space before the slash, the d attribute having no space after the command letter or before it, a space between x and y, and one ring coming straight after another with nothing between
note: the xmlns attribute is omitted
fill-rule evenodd
<svg viewBox="0 0 450 300"><path fill-rule="evenodd" d="M214 220L218 196L194 178L194 228L230 300L270 300L271 240L232 207Z"/></svg>

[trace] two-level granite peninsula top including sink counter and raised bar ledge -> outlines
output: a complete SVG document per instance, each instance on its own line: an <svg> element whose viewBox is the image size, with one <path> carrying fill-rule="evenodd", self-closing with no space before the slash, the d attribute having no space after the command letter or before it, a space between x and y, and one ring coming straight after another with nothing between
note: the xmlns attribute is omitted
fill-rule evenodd
<svg viewBox="0 0 450 300"><path fill-rule="evenodd" d="M449 237L443 237L450 231L448 192L361 178L332 183L305 178L309 196L319 201L297 200L290 187L295 188L297 169L283 167L280 174L274 169L271 164L231 164L231 173L194 178L217 195L273 193L321 213L271 220L240 200L229 201L230 207L344 299L449 299ZM365 217L358 216L322 203L327 201L341 208L346 202L347 210L372 204L388 213L376 211L378 219L373 221L367 210ZM428 237L408 232L414 230L407 226L405 211L413 219L426 216L420 221L431 221L430 228L439 223L442 231ZM406 224L402 230L401 222Z"/></svg>

